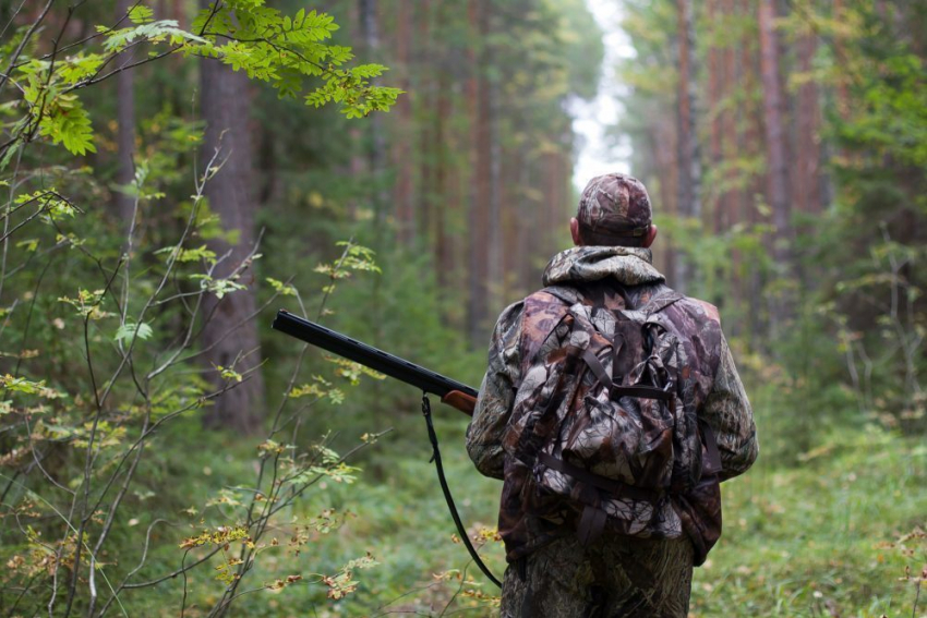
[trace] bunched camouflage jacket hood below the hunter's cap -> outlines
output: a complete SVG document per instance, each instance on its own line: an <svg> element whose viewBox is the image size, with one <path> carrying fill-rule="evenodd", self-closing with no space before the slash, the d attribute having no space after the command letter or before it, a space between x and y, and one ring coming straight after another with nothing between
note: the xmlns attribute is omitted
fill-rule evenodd
<svg viewBox="0 0 927 618"><path fill-rule="evenodd" d="M582 283L614 278L624 286L663 283L649 249L575 246L556 254L544 269L544 286Z"/></svg>

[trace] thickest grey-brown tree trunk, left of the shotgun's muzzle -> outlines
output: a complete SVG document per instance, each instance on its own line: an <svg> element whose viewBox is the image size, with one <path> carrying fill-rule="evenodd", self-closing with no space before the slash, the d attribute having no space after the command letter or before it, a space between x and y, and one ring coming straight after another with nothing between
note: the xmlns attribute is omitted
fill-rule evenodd
<svg viewBox="0 0 927 618"><path fill-rule="evenodd" d="M203 160L219 150L221 169L206 185L209 208L221 219L222 228L237 234L237 242L225 238L208 241L220 262L214 277L226 277L254 246L254 201L252 197L252 143L249 128L251 90L243 72L234 73L217 61L202 63L202 113L206 120ZM222 161L225 161L222 163ZM241 282L253 280L245 270ZM264 380L261 375L261 350L257 342L255 299L250 289L234 291L219 300L213 294L204 302L203 348L210 366L234 367L246 379L216 399L206 409L204 423L241 434L253 434L264 415ZM209 371L214 387L224 380Z"/></svg>

